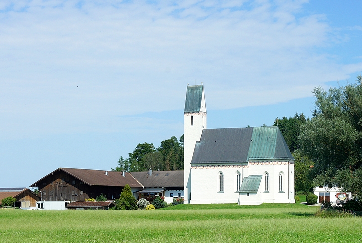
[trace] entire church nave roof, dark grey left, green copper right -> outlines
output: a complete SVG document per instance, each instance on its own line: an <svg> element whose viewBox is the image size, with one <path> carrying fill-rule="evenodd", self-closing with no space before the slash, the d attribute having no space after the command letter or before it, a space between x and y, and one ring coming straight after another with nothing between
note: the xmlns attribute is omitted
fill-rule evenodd
<svg viewBox="0 0 362 243"><path fill-rule="evenodd" d="M192 164L294 160L278 127L204 129Z"/></svg>

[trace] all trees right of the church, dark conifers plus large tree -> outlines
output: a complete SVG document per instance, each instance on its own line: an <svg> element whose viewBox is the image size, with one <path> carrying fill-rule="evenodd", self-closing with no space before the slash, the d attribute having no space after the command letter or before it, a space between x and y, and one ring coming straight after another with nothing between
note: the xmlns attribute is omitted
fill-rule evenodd
<svg viewBox="0 0 362 243"><path fill-rule="evenodd" d="M278 120L296 160L295 188L336 185L362 198L362 77L327 91L317 87L313 94L311 119L296 114Z"/></svg>

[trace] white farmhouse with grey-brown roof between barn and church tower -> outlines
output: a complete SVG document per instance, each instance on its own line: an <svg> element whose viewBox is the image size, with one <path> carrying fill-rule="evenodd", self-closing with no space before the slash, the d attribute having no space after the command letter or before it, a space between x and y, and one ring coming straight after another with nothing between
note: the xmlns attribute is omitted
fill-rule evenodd
<svg viewBox="0 0 362 243"><path fill-rule="evenodd" d="M149 171L131 172L144 186L137 192L138 199L153 201L155 196L164 196L165 202L173 202L173 198L184 197L184 171Z"/></svg>

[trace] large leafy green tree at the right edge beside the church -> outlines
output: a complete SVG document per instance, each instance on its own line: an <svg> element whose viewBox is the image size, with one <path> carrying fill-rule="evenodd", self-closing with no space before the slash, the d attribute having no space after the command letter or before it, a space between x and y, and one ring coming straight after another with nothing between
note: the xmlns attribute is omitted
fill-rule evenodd
<svg viewBox="0 0 362 243"><path fill-rule="evenodd" d="M337 184L362 198L362 77L314 89L313 117L301 125L301 151L314 161L315 185Z"/></svg>

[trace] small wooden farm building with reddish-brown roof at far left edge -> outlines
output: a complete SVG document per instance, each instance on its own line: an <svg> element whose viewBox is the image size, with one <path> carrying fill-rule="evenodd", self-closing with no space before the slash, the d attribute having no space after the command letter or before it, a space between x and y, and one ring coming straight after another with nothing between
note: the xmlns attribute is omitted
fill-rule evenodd
<svg viewBox="0 0 362 243"><path fill-rule="evenodd" d="M14 203L14 207L21 209L35 209L36 202L40 200L40 197L28 188L0 188L0 201L6 197L13 197L17 199Z"/></svg>

